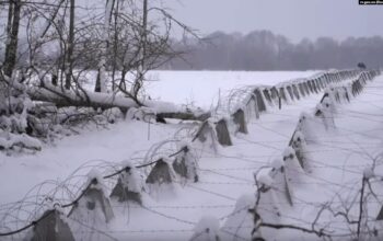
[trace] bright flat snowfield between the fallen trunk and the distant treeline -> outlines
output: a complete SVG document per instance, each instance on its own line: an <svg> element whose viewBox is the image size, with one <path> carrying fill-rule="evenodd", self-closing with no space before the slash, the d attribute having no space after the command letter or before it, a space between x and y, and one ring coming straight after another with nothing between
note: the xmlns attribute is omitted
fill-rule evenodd
<svg viewBox="0 0 383 241"><path fill-rule="evenodd" d="M276 84L320 71L151 71L148 94L155 100L209 108L219 94L239 87Z"/></svg>

